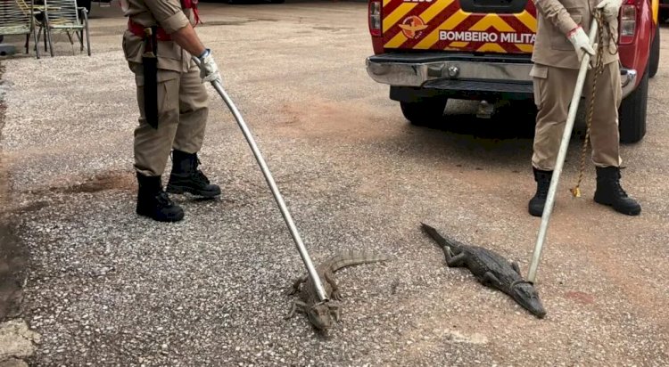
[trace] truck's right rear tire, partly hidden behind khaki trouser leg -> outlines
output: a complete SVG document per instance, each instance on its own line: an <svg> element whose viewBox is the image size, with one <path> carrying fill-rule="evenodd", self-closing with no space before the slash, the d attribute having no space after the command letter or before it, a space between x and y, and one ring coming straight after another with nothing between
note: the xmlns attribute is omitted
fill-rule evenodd
<svg viewBox="0 0 669 367"><path fill-rule="evenodd" d="M620 104L618 109L620 143L637 143L646 135L648 74L649 68L643 73L639 86Z"/></svg>

